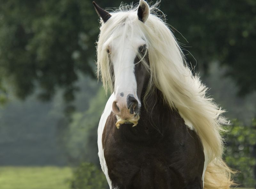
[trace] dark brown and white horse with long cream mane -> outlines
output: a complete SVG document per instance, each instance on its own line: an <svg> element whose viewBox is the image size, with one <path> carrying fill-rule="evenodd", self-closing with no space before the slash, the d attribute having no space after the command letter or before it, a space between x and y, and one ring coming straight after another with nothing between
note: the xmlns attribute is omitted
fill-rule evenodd
<svg viewBox="0 0 256 189"><path fill-rule="evenodd" d="M97 74L111 91L98 127L110 189L228 189L224 112L192 74L158 3L123 5L100 17Z"/></svg>

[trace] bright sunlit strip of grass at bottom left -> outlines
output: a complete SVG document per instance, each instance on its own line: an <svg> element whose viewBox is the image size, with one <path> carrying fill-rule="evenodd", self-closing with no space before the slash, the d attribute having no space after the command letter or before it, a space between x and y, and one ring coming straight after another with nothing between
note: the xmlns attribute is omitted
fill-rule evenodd
<svg viewBox="0 0 256 189"><path fill-rule="evenodd" d="M69 167L0 167L0 189L69 189Z"/></svg>

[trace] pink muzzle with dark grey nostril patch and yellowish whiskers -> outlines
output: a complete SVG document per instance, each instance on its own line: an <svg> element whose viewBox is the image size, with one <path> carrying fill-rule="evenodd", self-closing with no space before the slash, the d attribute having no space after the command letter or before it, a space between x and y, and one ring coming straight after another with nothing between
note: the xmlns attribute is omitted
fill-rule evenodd
<svg viewBox="0 0 256 189"><path fill-rule="evenodd" d="M112 111L117 118L116 127L119 128L124 123L133 124L132 127L136 126L140 119L139 110L140 103L134 95L128 94L125 96L121 92L112 104Z"/></svg>

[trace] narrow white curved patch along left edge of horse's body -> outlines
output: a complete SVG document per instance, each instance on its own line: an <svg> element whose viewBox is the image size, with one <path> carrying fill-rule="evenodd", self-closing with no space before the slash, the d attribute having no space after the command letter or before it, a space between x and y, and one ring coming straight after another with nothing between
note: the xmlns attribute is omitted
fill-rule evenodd
<svg viewBox="0 0 256 189"><path fill-rule="evenodd" d="M108 116L110 115L111 111L112 111L112 103L114 101L114 93L108 98L108 102L105 106L104 112L101 115L100 118L100 123L99 123L99 127L98 127L98 148L99 148L99 158L100 158L100 165L101 165L101 169L104 172L104 174L106 175L107 181L108 181L108 185L109 188L112 189L112 183L110 178L108 177L108 167L104 158L104 149L102 147L102 133L106 124L106 121L108 119Z"/></svg>

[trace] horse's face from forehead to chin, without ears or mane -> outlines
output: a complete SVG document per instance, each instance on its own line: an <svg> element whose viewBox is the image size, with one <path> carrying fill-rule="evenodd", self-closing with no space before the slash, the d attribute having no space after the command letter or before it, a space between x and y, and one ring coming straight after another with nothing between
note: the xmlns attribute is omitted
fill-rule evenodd
<svg viewBox="0 0 256 189"><path fill-rule="evenodd" d="M112 110L117 116L117 127L125 122L133 123L135 126L139 120L140 96L149 74L143 63L140 62L138 53L143 56L145 50L145 41L136 34L132 38L120 36L108 46L115 78L115 100ZM146 55L144 58L148 58L148 56Z"/></svg>

